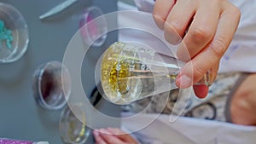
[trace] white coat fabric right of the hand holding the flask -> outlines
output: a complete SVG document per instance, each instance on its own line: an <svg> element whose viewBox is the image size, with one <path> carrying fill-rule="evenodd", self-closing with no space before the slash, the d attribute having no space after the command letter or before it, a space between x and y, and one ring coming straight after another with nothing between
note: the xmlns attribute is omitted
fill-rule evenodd
<svg viewBox="0 0 256 144"><path fill-rule="evenodd" d="M230 2L241 10L241 20L230 48L221 60L219 72L256 72L256 1Z"/></svg>

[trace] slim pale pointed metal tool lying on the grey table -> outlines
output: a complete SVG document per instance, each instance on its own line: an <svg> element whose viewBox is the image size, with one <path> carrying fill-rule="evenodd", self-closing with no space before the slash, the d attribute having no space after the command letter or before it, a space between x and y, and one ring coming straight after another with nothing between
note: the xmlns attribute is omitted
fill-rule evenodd
<svg viewBox="0 0 256 144"><path fill-rule="evenodd" d="M55 6L55 8L53 9L49 9L48 12L46 12L45 14L42 14L39 16L40 20L43 20L49 16L52 16L54 14L58 14L61 11L63 11L64 9L67 9L67 7L71 6L73 3L77 2L78 0L66 0L63 3L58 4L57 6Z"/></svg>

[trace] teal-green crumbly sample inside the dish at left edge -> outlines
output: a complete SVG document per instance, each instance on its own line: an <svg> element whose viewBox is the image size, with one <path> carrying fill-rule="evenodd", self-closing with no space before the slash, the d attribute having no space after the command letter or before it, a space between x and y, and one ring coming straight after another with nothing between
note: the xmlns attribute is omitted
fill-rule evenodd
<svg viewBox="0 0 256 144"><path fill-rule="evenodd" d="M11 49L13 40L12 31L4 26L3 20L0 20L0 43L5 42L6 46Z"/></svg>

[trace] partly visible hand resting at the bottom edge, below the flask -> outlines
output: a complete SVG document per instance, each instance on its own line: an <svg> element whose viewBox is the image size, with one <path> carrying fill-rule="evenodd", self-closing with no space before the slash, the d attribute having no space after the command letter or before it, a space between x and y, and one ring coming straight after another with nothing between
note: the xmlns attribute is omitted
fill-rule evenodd
<svg viewBox="0 0 256 144"><path fill-rule="evenodd" d="M96 144L137 144L131 135L116 128L94 130Z"/></svg>

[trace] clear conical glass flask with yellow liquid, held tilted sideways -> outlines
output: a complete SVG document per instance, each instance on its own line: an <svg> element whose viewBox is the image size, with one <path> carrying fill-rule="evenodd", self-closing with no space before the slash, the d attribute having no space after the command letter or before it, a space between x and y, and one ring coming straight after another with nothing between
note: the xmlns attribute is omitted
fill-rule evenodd
<svg viewBox="0 0 256 144"><path fill-rule="evenodd" d="M103 96L123 105L177 89L175 79L183 66L183 61L160 55L142 43L113 43L102 56ZM196 84L209 86L211 73Z"/></svg>

